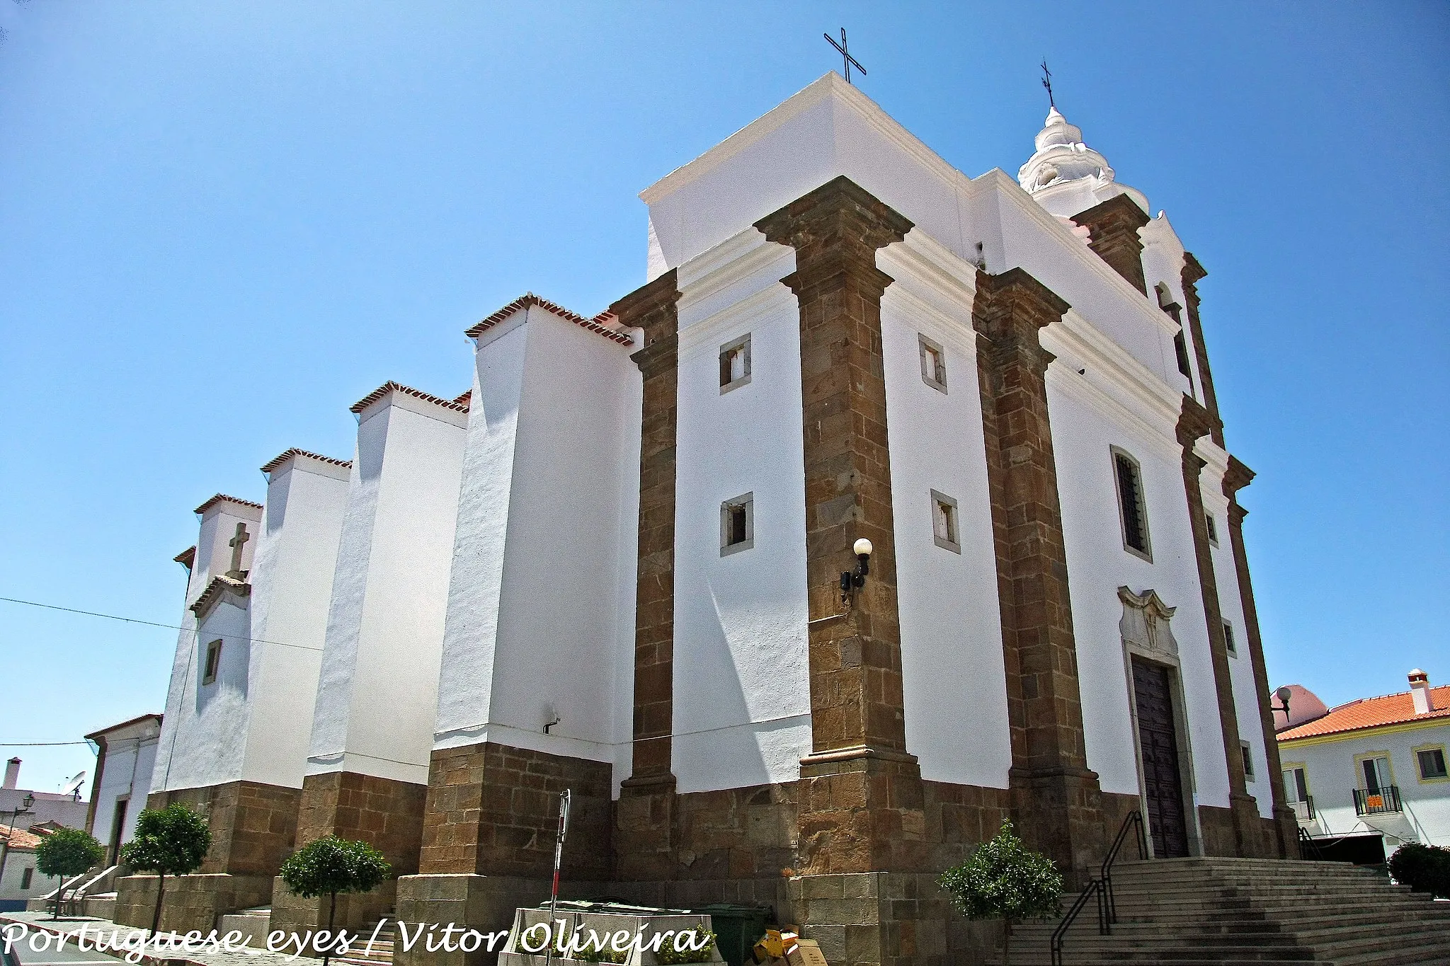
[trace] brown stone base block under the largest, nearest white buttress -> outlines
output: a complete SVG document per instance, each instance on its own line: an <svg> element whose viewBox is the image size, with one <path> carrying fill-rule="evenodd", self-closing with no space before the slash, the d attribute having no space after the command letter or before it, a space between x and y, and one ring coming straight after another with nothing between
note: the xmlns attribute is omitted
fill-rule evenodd
<svg viewBox="0 0 1450 966"><path fill-rule="evenodd" d="M486 742L432 753L423 812L425 875L550 878L558 797L570 789L564 875L610 872L608 762L529 752Z"/></svg>

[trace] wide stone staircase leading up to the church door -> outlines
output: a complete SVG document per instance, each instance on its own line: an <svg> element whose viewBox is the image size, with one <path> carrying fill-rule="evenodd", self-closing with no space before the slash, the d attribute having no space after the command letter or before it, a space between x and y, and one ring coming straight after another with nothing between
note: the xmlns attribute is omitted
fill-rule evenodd
<svg viewBox="0 0 1450 966"><path fill-rule="evenodd" d="M1112 882L1112 934L1099 936L1098 904L1089 899L1063 941L1064 966L1450 966L1450 902L1340 862L1119 862ZM1063 908L1076 898L1064 896ZM1014 928L1012 965L1051 963L1057 925Z"/></svg>

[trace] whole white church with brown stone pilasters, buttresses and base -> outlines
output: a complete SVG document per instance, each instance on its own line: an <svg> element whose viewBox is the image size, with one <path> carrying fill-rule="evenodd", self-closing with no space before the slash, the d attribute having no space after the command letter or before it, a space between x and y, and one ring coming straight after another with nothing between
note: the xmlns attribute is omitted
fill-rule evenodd
<svg viewBox="0 0 1450 966"><path fill-rule="evenodd" d="M1295 857L1204 269L1056 109L1035 148L970 178L828 74L642 193L639 290L510 303L471 387L199 507L151 802L216 844L164 925L315 924L273 876L336 833L399 876L348 924L503 928L566 786L566 892L832 962L969 962L931 882L1003 818L1074 882L1135 810Z"/></svg>

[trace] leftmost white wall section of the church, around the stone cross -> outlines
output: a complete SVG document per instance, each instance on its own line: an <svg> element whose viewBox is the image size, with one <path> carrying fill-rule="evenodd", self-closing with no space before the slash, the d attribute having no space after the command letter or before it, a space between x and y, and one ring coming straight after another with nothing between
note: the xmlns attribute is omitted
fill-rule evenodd
<svg viewBox="0 0 1450 966"><path fill-rule="evenodd" d="M235 782L242 775L248 723L246 669L251 662L251 618L245 601L228 597L202 624L190 607L213 576L226 574L232 560L229 542L245 523L251 539L244 545L242 569L252 568L262 511L233 501L219 501L202 514L196 560L187 582L183 630L167 691L165 720L151 788L170 791ZM215 682L202 685L209 642L222 639L222 659Z"/></svg>

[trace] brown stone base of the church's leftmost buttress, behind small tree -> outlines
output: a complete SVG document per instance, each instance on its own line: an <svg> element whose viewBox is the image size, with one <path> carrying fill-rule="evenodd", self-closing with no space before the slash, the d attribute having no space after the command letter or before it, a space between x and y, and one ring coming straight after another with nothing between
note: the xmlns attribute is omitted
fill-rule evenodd
<svg viewBox="0 0 1450 966"><path fill-rule="evenodd" d="M180 802L206 815L212 849L202 873L271 878L293 849L302 791L261 782L226 782L152 792L146 808ZM149 920L148 920L149 923Z"/></svg>

